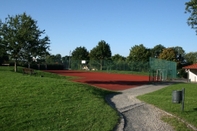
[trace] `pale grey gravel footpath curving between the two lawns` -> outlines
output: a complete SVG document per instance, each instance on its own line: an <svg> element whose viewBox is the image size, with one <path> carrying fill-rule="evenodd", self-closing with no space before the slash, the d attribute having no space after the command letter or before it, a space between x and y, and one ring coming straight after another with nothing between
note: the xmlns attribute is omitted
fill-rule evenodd
<svg viewBox="0 0 197 131"><path fill-rule="evenodd" d="M170 125L160 120L161 116L166 115L163 111L136 98L166 86L169 84L144 85L107 96L108 103L121 115L116 131L173 131Z"/></svg>

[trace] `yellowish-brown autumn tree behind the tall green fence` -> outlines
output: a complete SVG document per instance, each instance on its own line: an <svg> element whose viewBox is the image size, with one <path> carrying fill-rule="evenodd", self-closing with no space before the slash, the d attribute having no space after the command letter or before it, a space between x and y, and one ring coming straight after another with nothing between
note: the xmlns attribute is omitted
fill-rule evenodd
<svg viewBox="0 0 197 131"><path fill-rule="evenodd" d="M168 60L168 61L176 61L176 51L173 47L165 48L160 53L158 58Z"/></svg>

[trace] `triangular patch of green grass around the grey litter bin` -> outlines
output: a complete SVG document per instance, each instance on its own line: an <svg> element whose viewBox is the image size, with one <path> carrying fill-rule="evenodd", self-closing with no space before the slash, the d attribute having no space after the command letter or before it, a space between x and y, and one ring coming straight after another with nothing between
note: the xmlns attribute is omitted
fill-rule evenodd
<svg viewBox="0 0 197 131"><path fill-rule="evenodd" d="M185 88L184 111L181 111L181 104L172 103L172 91ZM173 84L161 90L138 96L138 98L147 103L153 104L162 110L165 110L182 120L197 127L197 84L180 83ZM170 119L167 121L171 121ZM169 122L172 123L172 122ZM179 124L175 124L176 127Z"/></svg>

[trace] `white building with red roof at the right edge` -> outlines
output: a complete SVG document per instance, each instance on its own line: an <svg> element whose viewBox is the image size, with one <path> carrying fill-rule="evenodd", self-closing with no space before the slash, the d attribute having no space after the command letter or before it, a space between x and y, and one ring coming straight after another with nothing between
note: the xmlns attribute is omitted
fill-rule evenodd
<svg viewBox="0 0 197 131"><path fill-rule="evenodd" d="M188 80L191 82L197 82L197 63L183 67L188 73Z"/></svg>

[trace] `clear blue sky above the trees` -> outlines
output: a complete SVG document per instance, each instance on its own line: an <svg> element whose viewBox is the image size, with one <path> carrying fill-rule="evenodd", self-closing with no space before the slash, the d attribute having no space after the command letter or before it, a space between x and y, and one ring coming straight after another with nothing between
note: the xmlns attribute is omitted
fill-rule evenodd
<svg viewBox="0 0 197 131"><path fill-rule="evenodd" d="M100 40L112 55L128 56L139 44L162 44L197 51L197 35L187 25L189 0L0 0L0 19L26 12L46 30L51 54L69 55L76 47L88 51Z"/></svg>

